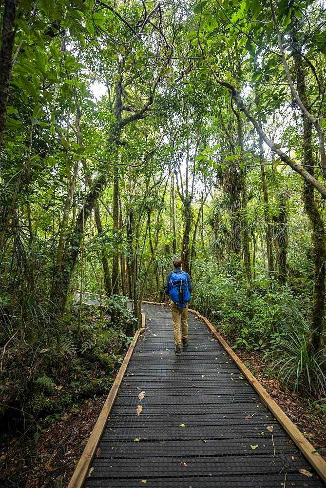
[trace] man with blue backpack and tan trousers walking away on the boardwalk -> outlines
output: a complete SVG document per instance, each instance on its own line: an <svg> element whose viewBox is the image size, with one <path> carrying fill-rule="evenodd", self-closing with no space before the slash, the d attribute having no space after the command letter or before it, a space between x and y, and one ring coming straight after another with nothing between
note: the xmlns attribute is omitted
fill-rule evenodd
<svg viewBox="0 0 326 488"><path fill-rule="evenodd" d="M179 319L181 316L182 344L188 346L188 303L192 292L192 281L188 273L181 269L181 259L173 260L174 270L170 271L165 286L165 306L169 306L171 297L171 313L173 322L173 338L175 354L181 354L181 334Z"/></svg>

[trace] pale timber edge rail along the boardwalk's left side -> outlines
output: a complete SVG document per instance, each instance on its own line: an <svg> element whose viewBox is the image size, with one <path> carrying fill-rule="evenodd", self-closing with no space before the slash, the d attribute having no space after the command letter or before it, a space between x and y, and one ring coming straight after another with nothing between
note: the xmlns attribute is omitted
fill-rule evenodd
<svg viewBox="0 0 326 488"><path fill-rule="evenodd" d="M96 424L92 430L92 433L88 439L88 442L80 456L80 459L78 461L77 467L74 471L74 474L70 480L70 483L68 485L68 488L81 488L84 484L84 481L86 479L86 476L88 474L90 465L92 463L93 457L96 452L96 447L99 443L99 440L101 438L101 435L103 433L104 427L106 426L108 417L110 415L111 409L113 407L113 404L115 403L115 398L116 395L118 394L121 382L123 380L123 376L126 372L128 363L130 361L130 358L133 355L134 352L134 347L138 341L138 338L140 334L145 332L145 315L142 313L141 314L141 328L136 330L136 333L134 334L134 340L131 343L131 345L128 348L127 354L123 360L122 365L120 366L120 369L118 371L118 374L115 377L115 381L113 385L111 386L110 392L107 396L107 399L105 400L105 403L103 405L103 408L98 416L98 419L96 420Z"/></svg>

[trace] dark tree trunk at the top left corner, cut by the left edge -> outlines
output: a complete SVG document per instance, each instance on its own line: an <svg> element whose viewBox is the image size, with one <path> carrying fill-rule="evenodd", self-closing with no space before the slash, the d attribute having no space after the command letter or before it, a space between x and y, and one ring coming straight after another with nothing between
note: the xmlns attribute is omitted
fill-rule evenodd
<svg viewBox="0 0 326 488"><path fill-rule="evenodd" d="M3 131L6 123L12 70L11 59L16 35L16 5L16 0L4 0L0 48L0 154L3 142Z"/></svg>

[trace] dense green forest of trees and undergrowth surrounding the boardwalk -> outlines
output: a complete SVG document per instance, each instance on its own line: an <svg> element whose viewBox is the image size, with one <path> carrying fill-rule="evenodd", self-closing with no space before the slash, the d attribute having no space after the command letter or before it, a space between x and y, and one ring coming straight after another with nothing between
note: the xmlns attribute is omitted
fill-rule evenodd
<svg viewBox="0 0 326 488"><path fill-rule="evenodd" d="M0 14L1 422L108 391L174 256L192 308L326 410L325 3Z"/></svg>

